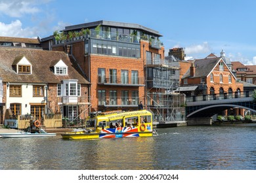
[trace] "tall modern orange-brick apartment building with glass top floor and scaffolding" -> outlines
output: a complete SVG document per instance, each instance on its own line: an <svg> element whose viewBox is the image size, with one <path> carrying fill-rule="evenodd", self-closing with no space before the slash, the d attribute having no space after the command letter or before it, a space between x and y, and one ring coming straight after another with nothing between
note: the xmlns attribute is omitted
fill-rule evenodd
<svg viewBox="0 0 256 183"><path fill-rule="evenodd" d="M92 112L137 110L142 101L156 118L160 116L156 120L166 121L170 119L165 119L166 114L173 115L166 111L173 69L179 69L164 58L161 36L142 25L102 20L55 32L49 50L65 51L83 70L91 82ZM51 41L45 38L41 44L51 45Z"/></svg>

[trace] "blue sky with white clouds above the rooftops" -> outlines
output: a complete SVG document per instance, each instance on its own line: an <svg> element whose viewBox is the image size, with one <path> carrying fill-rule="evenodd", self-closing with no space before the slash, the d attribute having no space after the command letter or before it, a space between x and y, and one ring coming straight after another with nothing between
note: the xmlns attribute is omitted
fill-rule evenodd
<svg viewBox="0 0 256 183"><path fill-rule="evenodd" d="M231 61L256 65L254 0L0 0L0 36L48 37L67 25L98 20L159 31L165 55L184 48L186 59L224 50Z"/></svg>

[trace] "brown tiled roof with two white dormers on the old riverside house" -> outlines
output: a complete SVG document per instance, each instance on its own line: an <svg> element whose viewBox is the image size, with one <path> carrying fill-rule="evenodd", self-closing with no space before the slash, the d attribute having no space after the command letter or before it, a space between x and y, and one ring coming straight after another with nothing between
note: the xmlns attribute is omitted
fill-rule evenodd
<svg viewBox="0 0 256 183"><path fill-rule="evenodd" d="M18 74L12 67L14 60L20 59L21 56L25 56L32 64L32 75ZM68 65L66 76L54 75L51 71L53 61L60 59ZM77 79L80 84L89 84L83 75L79 74L77 65L70 61L64 52L0 47L0 63L0 77L3 82L60 83L65 79Z"/></svg>

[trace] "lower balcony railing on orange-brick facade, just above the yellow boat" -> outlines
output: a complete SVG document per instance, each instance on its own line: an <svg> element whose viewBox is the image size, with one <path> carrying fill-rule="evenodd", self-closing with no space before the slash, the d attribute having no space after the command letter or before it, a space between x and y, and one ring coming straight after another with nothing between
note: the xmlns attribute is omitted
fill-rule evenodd
<svg viewBox="0 0 256 183"><path fill-rule="evenodd" d="M138 107L142 98L139 97L104 97L98 99L98 105L105 107Z"/></svg>

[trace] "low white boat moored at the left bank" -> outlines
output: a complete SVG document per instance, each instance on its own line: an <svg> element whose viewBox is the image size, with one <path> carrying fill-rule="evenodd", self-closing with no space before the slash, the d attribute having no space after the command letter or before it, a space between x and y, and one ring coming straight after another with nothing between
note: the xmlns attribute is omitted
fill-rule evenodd
<svg viewBox="0 0 256 183"><path fill-rule="evenodd" d="M43 129L40 133L30 133L26 131L20 131L16 133L0 133L0 138L25 138L25 137L54 137L56 133L47 133Z"/></svg>

